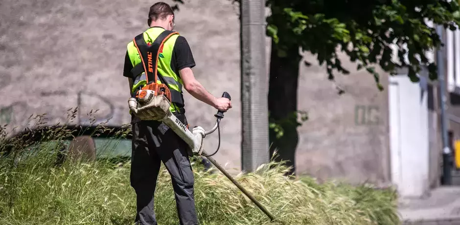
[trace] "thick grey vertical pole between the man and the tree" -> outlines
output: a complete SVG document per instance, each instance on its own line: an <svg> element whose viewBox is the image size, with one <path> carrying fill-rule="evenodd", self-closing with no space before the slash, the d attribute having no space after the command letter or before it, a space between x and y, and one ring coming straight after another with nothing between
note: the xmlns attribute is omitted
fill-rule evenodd
<svg viewBox="0 0 460 225"><path fill-rule="evenodd" d="M268 76L265 59L265 1L241 0L241 165L254 171L268 163Z"/></svg>

